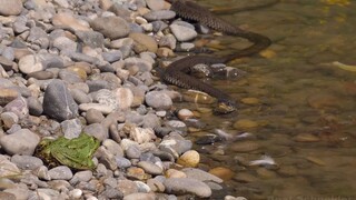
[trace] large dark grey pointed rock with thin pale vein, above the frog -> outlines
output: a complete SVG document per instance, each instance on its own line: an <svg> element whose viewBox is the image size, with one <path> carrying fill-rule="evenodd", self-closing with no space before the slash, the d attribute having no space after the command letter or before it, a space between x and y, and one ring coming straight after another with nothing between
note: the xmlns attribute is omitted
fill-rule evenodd
<svg viewBox="0 0 356 200"><path fill-rule="evenodd" d="M59 121L78 116L78 104L61 80L55 79L48 84L43 98L43 112Z"/></svg>

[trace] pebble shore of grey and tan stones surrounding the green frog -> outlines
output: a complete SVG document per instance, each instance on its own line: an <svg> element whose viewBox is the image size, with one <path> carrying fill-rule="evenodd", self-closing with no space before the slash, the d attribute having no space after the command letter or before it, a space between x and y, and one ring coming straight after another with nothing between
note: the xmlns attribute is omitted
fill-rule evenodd
<svg viewBox="0 0 356 200"><path fill-rule="evenodd" d="M234 198L185 139L157 58L198 33L164 0L0 0L0 199ZM95 170L48 168L43 138L97 138ZM217 197L215 193L224 193Z"/></svg>

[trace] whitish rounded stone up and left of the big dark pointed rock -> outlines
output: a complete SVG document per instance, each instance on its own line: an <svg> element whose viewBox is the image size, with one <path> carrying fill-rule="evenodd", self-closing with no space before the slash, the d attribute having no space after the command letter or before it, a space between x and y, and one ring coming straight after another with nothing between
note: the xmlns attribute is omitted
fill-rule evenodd
<svg viewBox="0 0 356 200"><path fill-rule="evenodd" d="M44 69L42 62L34 54L27 54L19 60L19 69L22 73L32 73Z"/></svg>

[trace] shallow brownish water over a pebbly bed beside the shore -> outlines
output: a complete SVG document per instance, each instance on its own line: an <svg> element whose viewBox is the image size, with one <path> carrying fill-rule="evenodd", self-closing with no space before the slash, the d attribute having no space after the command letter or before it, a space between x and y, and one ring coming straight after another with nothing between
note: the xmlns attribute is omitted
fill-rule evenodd
<svg viewBox="0 0 356 200"><path fill-rule="evenodd" d="M211 8L268 1L198 2ZM356 72L332 64L356 66L355 10L352 0L281 0L269 8L221 16L274 42L267 58L230 64L247 71L245 78L210 81L243 101L238 114L202 114L208 129L190 133L199 138L220 128L254 136L196 146L202 153L201 167L233 170L233 179L226 181L229 193L249 199L356 199ZM234 37L216 39L230 52L247 43ZM239 152L241 142L259 148ZM277 166L246 164L263 154Z"/></svg>

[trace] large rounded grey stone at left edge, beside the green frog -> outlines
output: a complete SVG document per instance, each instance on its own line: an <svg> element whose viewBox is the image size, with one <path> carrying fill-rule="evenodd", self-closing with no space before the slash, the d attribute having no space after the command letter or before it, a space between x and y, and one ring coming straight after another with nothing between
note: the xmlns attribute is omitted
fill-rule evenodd
<svg viewBox="0 0 356 200"><path fill-rule="evenodd" d="M0 138L1 148L9 154L31 156L40 142L40 137L28 129L20 129Z"/></svg>

